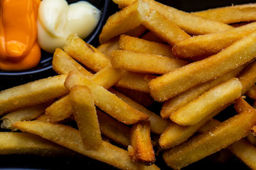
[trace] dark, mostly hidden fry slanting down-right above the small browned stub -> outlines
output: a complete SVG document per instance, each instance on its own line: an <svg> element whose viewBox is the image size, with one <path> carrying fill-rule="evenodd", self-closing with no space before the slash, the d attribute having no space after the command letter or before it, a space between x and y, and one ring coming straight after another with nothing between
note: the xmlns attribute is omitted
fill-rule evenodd
<svg viewBox="0 0 256 170"><path fill-rule="evenodd" d="M141 111L149 116L148 120L150 122L150 130L156 134L161 134L164 129L166 129L168 122L166 120L163 120L163 118L159 117L159 115L156 115L156 113L153 113L152 111L147 110L140 104L136 103L135 101L132 101L129 97L126 97L124 94L121 94L120 92L109 89L110 92L115 94L117 97L122 99L125 103L132 106L132 108L135 108L138 111Z"/></svg>

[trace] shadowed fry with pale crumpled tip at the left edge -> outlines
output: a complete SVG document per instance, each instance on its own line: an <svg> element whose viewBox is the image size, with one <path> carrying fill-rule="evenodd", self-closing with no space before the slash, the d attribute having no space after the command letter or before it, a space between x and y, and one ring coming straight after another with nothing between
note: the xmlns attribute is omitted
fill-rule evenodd
<svg viewBox="0 0 256 170"><path fill-rule="evenodd" d="M18 129L14 129L12 127L13 123L23 120L33 120L34 118L42 115L47 106L49 106L49 103L36 104L35 106L27 106L11 111L0 119L2 121L1 128L17 131Z"/></svg>

